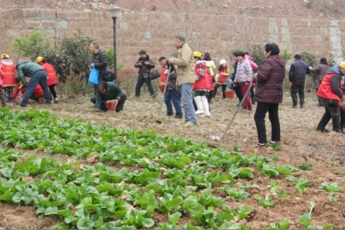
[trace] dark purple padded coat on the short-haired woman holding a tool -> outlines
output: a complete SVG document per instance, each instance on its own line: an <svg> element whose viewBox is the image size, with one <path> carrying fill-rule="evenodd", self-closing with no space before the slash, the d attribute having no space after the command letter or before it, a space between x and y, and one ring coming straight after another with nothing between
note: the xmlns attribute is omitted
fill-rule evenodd
<svg viewBox="0 0 345 230"><path fill-rule="evenodd" d="M257 72L255 102L281 103L283 100L283 81L285 61L280 55L271 55L264 60Z"/></svg>

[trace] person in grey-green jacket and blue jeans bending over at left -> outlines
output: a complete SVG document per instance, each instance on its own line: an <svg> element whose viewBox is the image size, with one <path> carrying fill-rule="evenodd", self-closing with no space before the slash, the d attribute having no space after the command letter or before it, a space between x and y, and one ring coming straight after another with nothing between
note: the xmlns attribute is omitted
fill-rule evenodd
<svg viewBox="0 0 345 230"><path fill-rule="evenodd" d="M34 92L34 88L36 88L37 84L39 84L43 90L46 104L51 104L50 92L47 85L48 75L42 66L34 62L21 61L19 64L17 64L16 70L18 71L21 82L23 83L24 87L26 87L26 94L21 101L21 107L26 107L28 105L30 96ZM28 83L26 82L25 77L29 76L30 82Z"/></svg>

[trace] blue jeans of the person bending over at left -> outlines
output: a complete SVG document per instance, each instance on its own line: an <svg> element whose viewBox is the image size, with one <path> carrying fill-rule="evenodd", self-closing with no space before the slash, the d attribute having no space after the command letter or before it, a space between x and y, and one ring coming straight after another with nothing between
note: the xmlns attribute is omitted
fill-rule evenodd
<svg viewBox="0 0 345 230"><path fill-rule="evenodd" d="M47 73L44 70L37 71L30 77L30 82L28 84L28 87L26 88L23 100L21 101L21 106L25 107L28 104L28 101L30 99L30 96L34 92L34 88L39 84L43 90L44 93L44 99L46 100L47 104L51 103L50 100L50 92L48 90L48 84L47 84Z"/></svg>

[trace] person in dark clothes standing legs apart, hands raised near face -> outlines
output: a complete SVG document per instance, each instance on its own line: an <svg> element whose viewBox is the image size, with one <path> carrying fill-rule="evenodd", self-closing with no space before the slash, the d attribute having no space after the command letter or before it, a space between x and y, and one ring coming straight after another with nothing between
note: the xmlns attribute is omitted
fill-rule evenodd
<svg viewBox="0 0 345 230"><path fill-rule="evenodd" d="M151 96L156 98L155 90L153 90L150 79L150 71L152 68L155 68L155 62L146 54L145 50L140 50L139 55L140 57L134 65L135 68L139 68L137 85L135 86L135 97L140 97L141 87L145 83L148 86L148 91Z"/></svg>

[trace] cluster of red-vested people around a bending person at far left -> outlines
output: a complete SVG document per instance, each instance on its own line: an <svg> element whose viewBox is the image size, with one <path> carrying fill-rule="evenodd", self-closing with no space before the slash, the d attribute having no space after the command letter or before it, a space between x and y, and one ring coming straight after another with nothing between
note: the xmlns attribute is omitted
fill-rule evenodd
<svg viewBox="0 0 345 230"><path fill-rule="evenodd" d="M15 70L18 71L19 77L15 77ZM26 77L30 77L29 82ZM54 67L48 64L43 57L37 57L37 63L21 61L14 65L9 55L1 55L0 100L3 107L13 106L19 91L21 92L19 99L21 107L26 107L29 99L39 102L44 98L47 104L50 104L52 100L57 103L57 93L55 92L57 84L58 79Z"/></svg>

